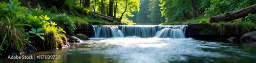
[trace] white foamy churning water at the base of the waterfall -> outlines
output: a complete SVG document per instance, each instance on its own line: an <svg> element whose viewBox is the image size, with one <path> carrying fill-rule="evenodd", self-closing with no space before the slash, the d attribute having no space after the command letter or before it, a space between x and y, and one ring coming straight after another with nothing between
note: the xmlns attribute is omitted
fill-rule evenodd
<svg viewBox="0 0 256 63"><path fill-rule="evenodd" d="M168 62L187 61L188 56L194 57L227 57L219 52L203 51L201 48L214 48L204 46L203 43L193 39L170 38L108 38L99 41L94 48L81 53L104 54L118 59L118 62ZM103 49L103 50L102 50ZM71 50L70 50L71 51ZM207 59L213 61L212 59Z"/></svg>

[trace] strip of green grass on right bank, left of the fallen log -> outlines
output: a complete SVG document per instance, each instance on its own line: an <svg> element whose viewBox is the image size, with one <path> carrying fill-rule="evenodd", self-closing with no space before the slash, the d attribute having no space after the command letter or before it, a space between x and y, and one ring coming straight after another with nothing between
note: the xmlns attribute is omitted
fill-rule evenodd
<svg viewBox="0 0 256 63"><path fill-rule="evenodd" d="M196 19L192 18L189 20L184 21L172 21L172 22L165 22L159 25L187 25L190 23L209 23L210 17L207 16L199 16Z"/></svg>

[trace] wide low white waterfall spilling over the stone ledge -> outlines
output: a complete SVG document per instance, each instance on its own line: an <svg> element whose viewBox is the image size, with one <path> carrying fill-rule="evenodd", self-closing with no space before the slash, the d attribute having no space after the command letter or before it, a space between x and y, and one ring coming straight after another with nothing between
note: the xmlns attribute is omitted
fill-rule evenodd
<svg viewBox="0 0 256 63"><path fill-rule="evenodd" d="M94 25L95 38L136 36L141 38L185 38L184 25Z"/></svg>

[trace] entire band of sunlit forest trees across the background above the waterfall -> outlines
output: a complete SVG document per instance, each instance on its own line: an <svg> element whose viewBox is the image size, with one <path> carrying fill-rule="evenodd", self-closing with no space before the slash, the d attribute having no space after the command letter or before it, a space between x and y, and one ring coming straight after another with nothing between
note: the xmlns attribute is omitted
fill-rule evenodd
<svg viewBox="0 0 256 63"><path fill-rule="evenodd" d="M47 11L52 11L51 9L56 7L57 11L54 13L68 13L80 18L86 15L82 12L89 10L120 19L126 24L181 22L202 16L209 18L256 4L254 0L20 0L20 2L22 6L27 7L40 5L39 8ZM209 20L208 18L206 20ZM256 16L250 14L249 17L244 18L256 18Z"/></svg>

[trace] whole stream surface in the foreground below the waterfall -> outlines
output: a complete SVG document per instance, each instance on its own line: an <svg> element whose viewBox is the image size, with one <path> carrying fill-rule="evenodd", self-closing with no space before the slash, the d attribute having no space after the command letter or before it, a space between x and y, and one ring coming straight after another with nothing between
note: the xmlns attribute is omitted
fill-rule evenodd
<svg viewBox="0 0 256 63"><path fill-rule="evenodd" d="M7 59L1 62L256 62L256 44L233 44L170 38L91 38L70 47L30 55L60 59Z"/></svg>

